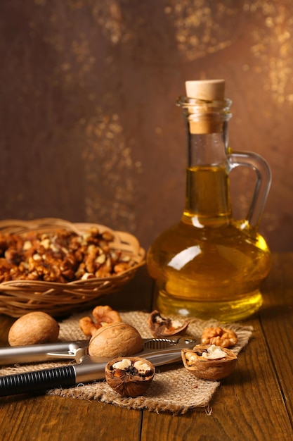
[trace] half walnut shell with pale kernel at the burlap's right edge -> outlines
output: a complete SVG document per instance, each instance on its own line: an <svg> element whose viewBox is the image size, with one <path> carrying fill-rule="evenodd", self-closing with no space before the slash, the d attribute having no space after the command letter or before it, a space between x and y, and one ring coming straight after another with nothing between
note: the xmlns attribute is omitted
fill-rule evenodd
<svg viewBox="0 0 293 441"><path fill-rule="evenodd" d="M215 349L216 353L214 352ZM212 352L214 352L214 355ZM209 356L217 356L218 353L221 358L208 358ZM223 353L225 353L224 356ZM181 356L185 368L194 373L197 378L204 380L221 380L228 377L234 371L237 362L237 356L234 352L214 344L197 344L191 350L183 349Z"/></svg>

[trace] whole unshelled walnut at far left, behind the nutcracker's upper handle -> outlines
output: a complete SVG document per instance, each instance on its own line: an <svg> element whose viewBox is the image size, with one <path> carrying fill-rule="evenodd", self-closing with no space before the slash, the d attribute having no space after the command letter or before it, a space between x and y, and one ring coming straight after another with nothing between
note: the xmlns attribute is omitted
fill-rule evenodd
<svg viewBox="0 0 293 441"><path fill-rule="evenodd" d="M51 343L58 340L59 325L49 314L34 311L18 318L8 333L11 346Z"/></svg>

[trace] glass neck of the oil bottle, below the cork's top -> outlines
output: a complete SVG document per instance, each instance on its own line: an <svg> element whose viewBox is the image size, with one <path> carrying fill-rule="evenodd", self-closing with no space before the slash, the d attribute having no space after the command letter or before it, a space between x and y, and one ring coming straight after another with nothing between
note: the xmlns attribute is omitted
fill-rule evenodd
<svg viewBox="0 0 293 441"><path fill-rule="evenodd" d="M228 180L230 113L190 112L185 107L188 161L181 221L197 228L228 225L232 219Z"/></svg>

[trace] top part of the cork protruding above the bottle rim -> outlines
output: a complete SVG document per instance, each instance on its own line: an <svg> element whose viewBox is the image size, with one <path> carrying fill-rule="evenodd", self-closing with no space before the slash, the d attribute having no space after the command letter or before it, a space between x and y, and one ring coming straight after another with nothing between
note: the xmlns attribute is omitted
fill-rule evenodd
<svg viewBox="0 0 293 441"><path fill-rule="evenodd" d="M188 98L204 101L222 101L225 96L225 80L185 81Z"/></svg>

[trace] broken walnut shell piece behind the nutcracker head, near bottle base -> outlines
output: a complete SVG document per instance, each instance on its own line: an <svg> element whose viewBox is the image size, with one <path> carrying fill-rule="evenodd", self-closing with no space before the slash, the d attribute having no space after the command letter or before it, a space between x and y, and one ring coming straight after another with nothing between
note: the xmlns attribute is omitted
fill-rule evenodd
<svg viewBox="0 0 293 441"><path fill-rule="evenodd" d="M182 323L181 321L162 317L159 311L152 311L148 318L148 325L155 338L171 337L172 335L185 334L189 321Z"/></svg>

